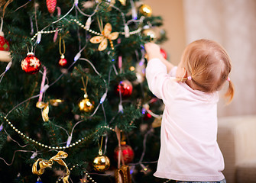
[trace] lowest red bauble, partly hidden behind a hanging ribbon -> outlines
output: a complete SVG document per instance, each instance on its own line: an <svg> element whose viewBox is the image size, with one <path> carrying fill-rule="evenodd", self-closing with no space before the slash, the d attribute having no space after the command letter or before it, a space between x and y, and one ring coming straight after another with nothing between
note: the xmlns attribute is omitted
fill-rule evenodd
<svg viewBox="0 0 256 183"><path fill-rule="evenodd" d="M118 161L118 154L119 154L119 148L118 146L115 148L115 154L114 154L114 159L115 161ZM128 164L132 162L134 159L134 151L131 149L131 146L128 146L125 141L121 142L121 152L123 159L125 161L125 164Z"/></svg>

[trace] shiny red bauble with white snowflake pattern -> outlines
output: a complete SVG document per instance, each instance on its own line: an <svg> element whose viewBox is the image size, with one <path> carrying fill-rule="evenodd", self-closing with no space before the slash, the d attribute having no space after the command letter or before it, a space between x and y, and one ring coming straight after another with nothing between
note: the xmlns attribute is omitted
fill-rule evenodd
<svg viewBox="0 0 256 183"><path fill-rule="evenodd" d="M28 56L21 61L21 68L24 72L28 74L35 74L39 71L41 67L41 62L34 53L28 53Z"/></svg>

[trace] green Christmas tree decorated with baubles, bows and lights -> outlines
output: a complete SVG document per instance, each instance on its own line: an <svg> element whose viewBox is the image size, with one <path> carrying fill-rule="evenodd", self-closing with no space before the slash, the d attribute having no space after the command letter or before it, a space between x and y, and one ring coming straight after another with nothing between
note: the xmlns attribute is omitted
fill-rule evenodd
<svg viewBox="0 0 256 183"><path fill-rule="evenodd" d="M151 7L3 0L0 15L0 182L163 182L143 45L165 34Z"/></svg>

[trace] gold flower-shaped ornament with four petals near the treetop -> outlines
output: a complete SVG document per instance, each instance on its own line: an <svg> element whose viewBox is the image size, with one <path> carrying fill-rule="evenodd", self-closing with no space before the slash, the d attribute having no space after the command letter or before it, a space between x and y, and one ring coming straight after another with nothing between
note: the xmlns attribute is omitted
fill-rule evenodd
<svg viewBox="0 0 256 183"><path fill-rule="evenodd" d="M90 42L99 43L98 50L103 51L108 47L108 40L109 40L110 46L112 50L114 50L114 45L112 40L116 40L119 36L119 33L118 32L111 33L111 31L112 31L112 25L109 23L105 24L104 30L102 31L102 36L92 37L90 39Z"/></svg>

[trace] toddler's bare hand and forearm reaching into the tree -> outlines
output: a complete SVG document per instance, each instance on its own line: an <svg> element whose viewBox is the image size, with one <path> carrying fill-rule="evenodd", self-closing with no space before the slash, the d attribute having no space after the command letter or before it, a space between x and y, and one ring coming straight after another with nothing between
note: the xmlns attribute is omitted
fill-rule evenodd
<svg viewBox="0 0 256 183"><path fill-rule="evenodd" d="M167 67L167 72L173 69L173 64L164 59L164 56L160 53L160 47L155 43L146 43L145 50L147 52L147 62L151 59L160 59L162 63Z"/></svg>

